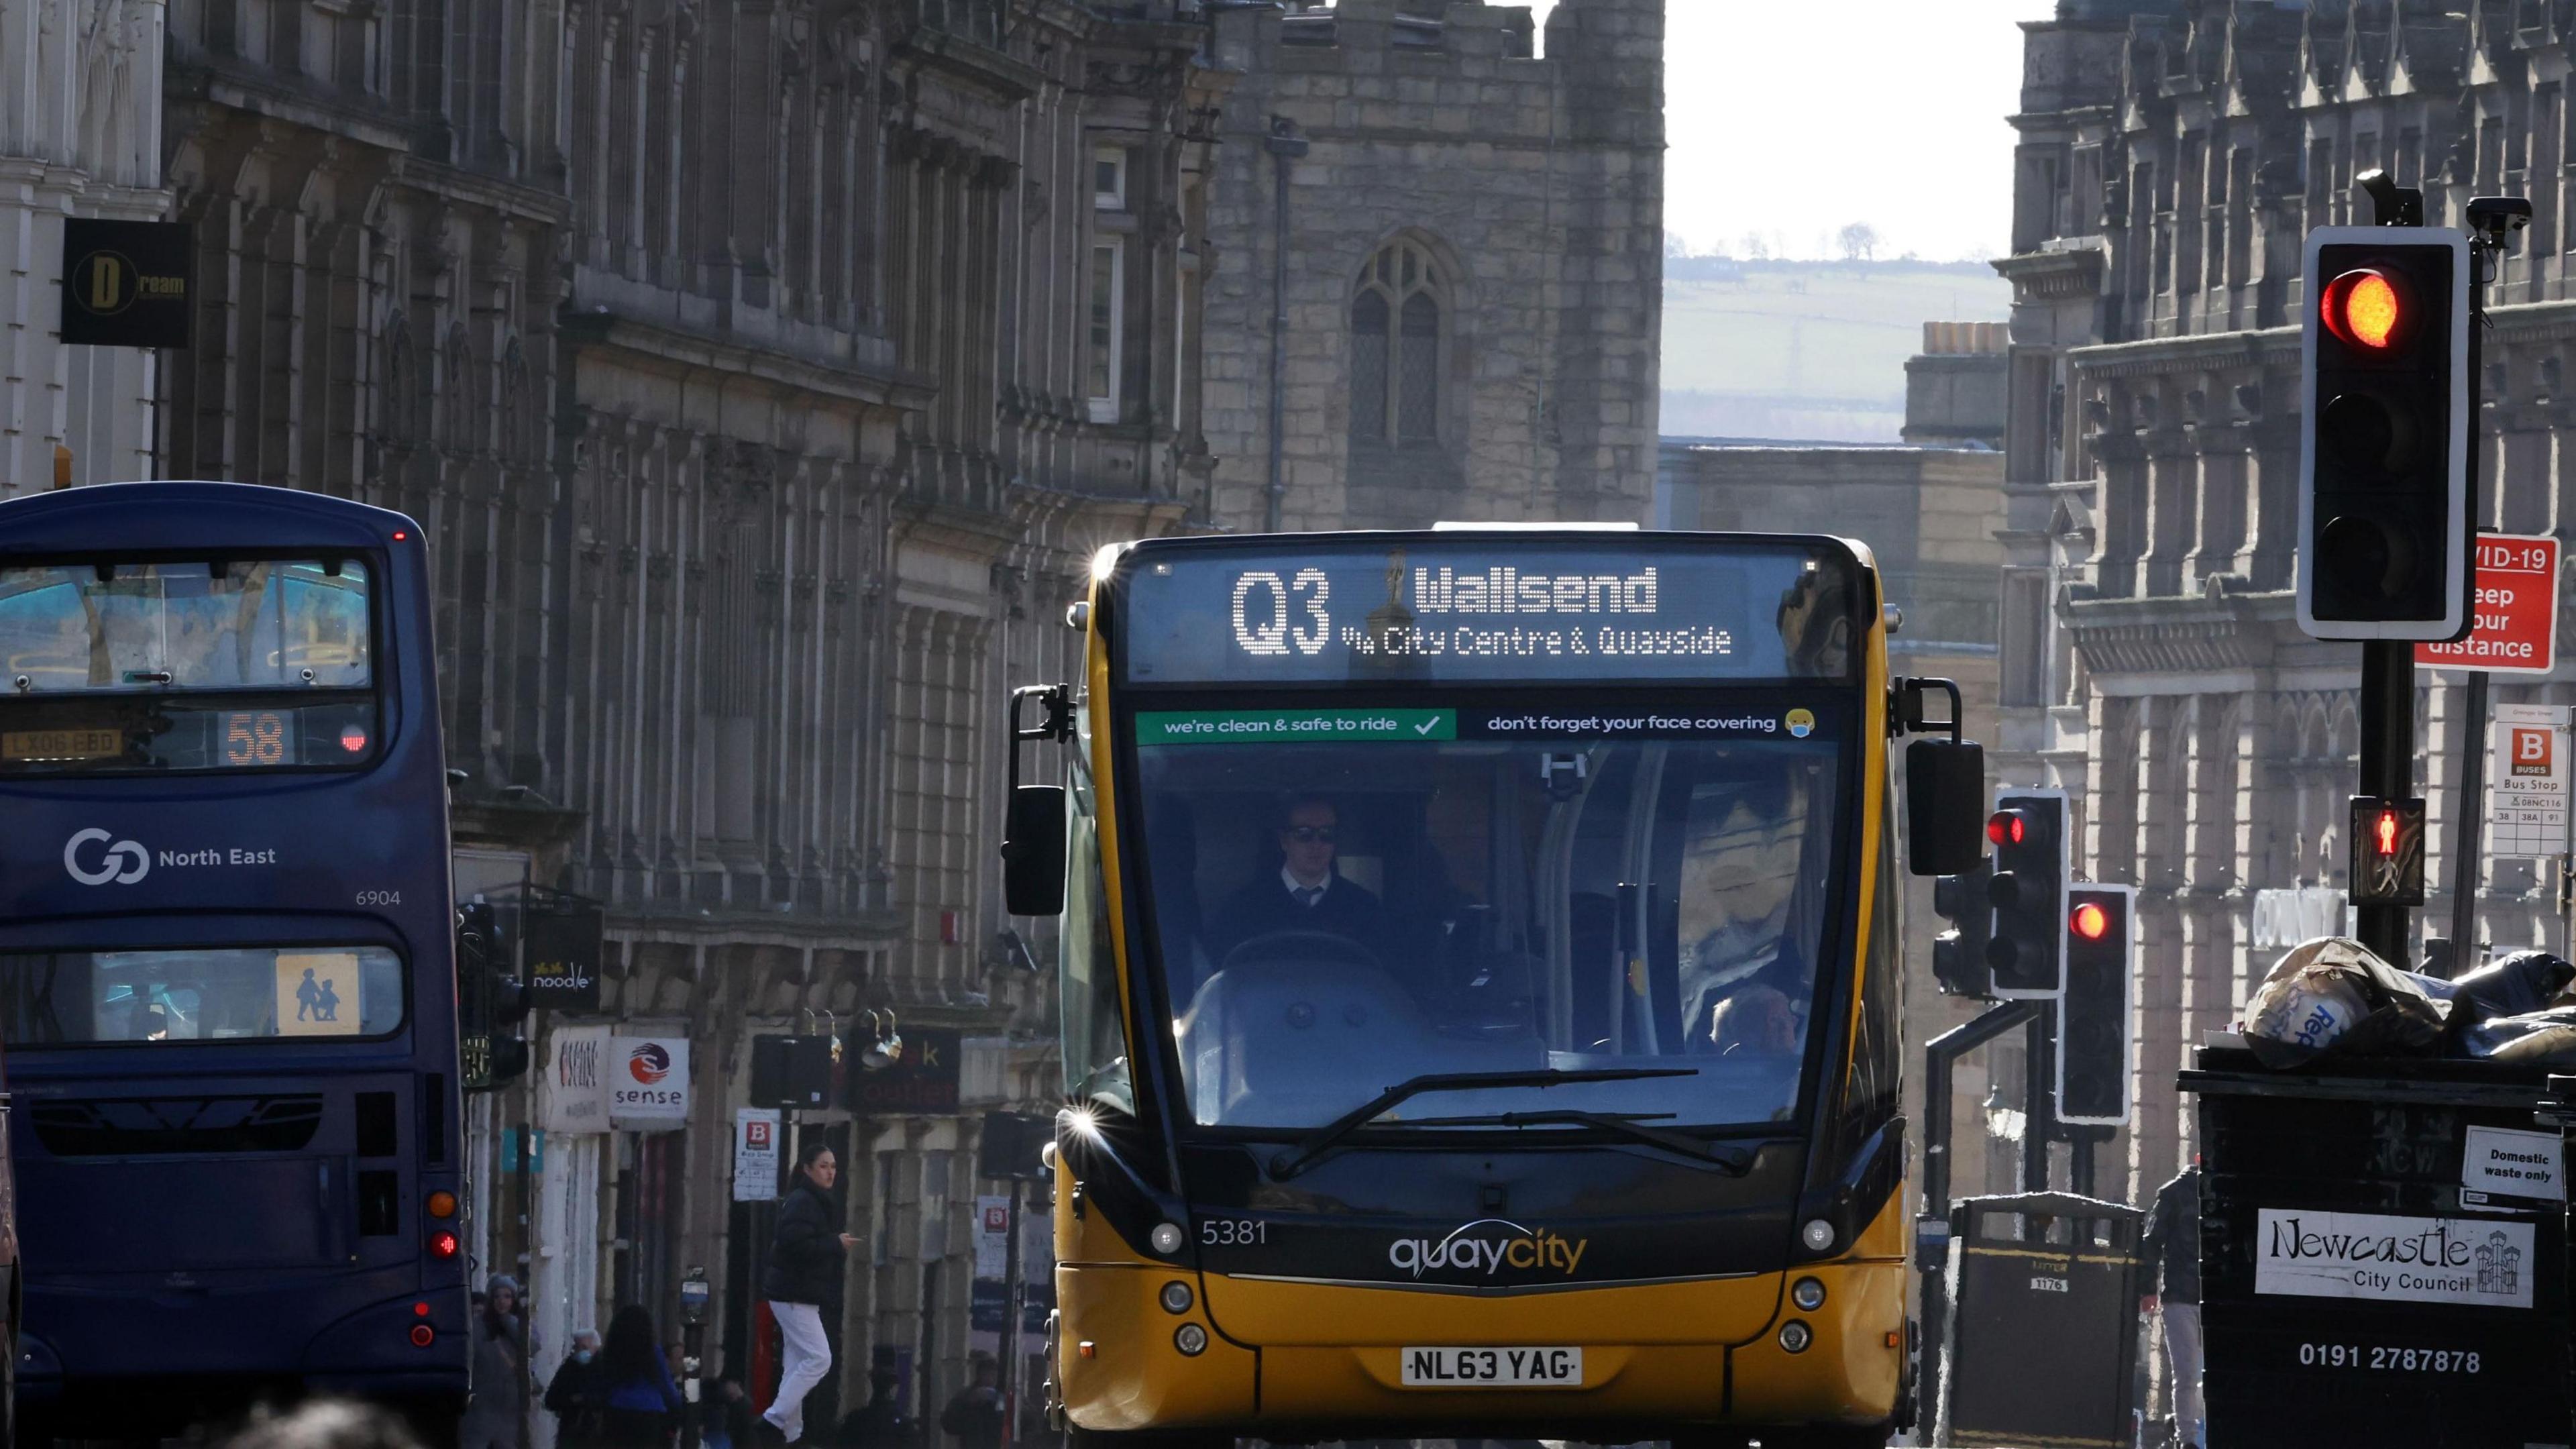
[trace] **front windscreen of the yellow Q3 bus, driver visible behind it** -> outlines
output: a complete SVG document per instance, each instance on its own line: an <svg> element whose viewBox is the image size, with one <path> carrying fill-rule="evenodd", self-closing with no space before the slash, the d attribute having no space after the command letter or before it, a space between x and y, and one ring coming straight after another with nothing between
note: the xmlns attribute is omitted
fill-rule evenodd
<svg viewBox="0 0 2576 1449"><path fill-rule="evenodd" d="M1546 1067L1680 1075L1425 1093L1383 1122L1795 1116L1819 967L1850 949L1842 701L1620 694L1136 714L1195 1122L1319 1127L1419 1073Z"/></svg>

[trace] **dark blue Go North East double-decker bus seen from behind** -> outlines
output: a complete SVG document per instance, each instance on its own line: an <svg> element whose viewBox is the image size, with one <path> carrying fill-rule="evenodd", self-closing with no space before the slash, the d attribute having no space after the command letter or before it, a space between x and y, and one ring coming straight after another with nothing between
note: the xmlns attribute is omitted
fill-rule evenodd
<svg viewBox="0 0 2576 1449"><path fill-rule="evenodd" d="M0 503L23 1436L466 1395L456 915L420 526Z"/></svg>

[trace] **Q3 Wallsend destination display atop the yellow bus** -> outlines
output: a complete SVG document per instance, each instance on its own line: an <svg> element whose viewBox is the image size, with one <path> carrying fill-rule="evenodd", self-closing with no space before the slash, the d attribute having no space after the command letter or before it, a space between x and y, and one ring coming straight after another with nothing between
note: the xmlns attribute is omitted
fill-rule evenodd
<svg viewBox="0 0 2576 1449"><path fill-rule="evenodd" d="M1146 552L1133 683L1842 678L1852 580L1780 544Z"/></svg>

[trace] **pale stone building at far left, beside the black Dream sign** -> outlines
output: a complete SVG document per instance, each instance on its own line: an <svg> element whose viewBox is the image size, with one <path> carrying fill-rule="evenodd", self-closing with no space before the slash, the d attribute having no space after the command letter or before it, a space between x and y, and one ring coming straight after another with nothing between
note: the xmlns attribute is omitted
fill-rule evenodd
<svg viewBox="0 0 2576 1449"><path fill-rule="evenodd" d="M0 8L0 495L152 472L157 353L57 335L62 219L160 222L162 0Z"/></svg>

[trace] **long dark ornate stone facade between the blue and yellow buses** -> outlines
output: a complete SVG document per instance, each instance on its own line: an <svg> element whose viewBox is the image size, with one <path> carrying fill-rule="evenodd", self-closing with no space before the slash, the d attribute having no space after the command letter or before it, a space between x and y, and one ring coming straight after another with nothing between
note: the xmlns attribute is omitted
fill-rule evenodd
<svg viewBox="0 0 2576 1449"><path fill-rule="evenodd" d="M1069 678L1090 552L1203 498L1182 209L1231 77L1195 10L173 13L201 297L157 472L420 518L459 892L505 928L531 887L605 902L603 1011L474 1098L471 1245L533 1276L541 1372L618 1302L675 1323L690 1263L750 1372L750 1039L876 1008L902 1109L806 1122L866 1240L842 1387L963 1382L979 1119L1056 1091L1051 944L1005 933L992 853L1002 704ZM533 1083L598 1024L690 1042L690 1122L556 1134L523 1220Z"/></svg>

